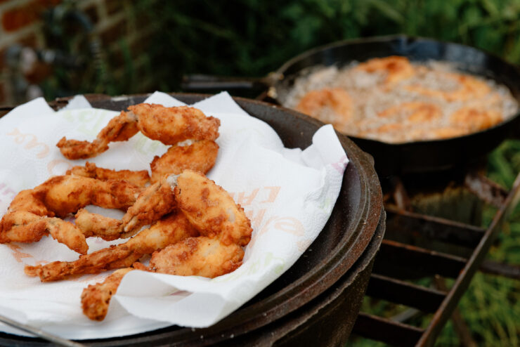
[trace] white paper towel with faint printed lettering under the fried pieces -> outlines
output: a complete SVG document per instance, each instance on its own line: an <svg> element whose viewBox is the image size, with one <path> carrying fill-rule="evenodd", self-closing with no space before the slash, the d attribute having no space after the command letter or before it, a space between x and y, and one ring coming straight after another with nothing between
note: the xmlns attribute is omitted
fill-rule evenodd
<svg viewBox="0 0 520 347"><path fill-rule="evenodd" d="M56 148L58 140L62 136L93 140L118 114L85 108L85 102L77 98L67 110L54 112L40 98L0 119L0 215L20 190L84 164L85 160L65 159ZM159 92L146 102L183 105ZM0 244L0 311L4 315L74 339L123 336L174 324L208 327L297 261L327 222L348 162L332 126L319 129L309 148L287 149L270 126L249 116L228 93L193 106L221 120L216 140L219 155L207 176L228 190L252 221L254 231L242 266L212 280L132 271L122 280L105 320L93 322L83 315L79 296L84 287L100 282L108 273L41 283L38 277L24 274L26 264L73 261L78 254L51 237L33 244ZM152 158L166 150L167 146L138 133L127 142L111 143L107 152L89 161L109 169L142 170L149 169ZM124 241L91 237L89 253ZM0 330L22 334L5 325Z"/></svg>

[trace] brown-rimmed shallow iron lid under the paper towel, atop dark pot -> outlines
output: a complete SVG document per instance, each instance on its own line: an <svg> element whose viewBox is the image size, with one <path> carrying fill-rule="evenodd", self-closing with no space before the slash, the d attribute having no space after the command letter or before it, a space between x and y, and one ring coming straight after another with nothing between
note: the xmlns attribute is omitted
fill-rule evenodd
<svg viewBox="0 0 520 347"><path fill-rule="evenodd" d="M195 94L173 96L188 104L207 98ZM124 110L129 105L142 103L145 96L87 98L93 107ZM323 125L316 119L283 107L242 98L235 100L249 114L271 125L288 148L306 148L311 144L313 133ZM353 265L363 256L366 257L366 266L374 258L382 240L382 192L370 156L346 136L339 134L339 140L350 163L346 167L342 189L332 215L304 255L273 284L245 306L207 329L193 330L174 326L134 336L85 342L92 346L148 346L164 341L168 341L169 346L209 343L233 345L233 341L239 336L271 323L276 325L275 322L282 317L297 314L295 312L299 308L327 291L350 269L355 269L353 275L358 276L365 268ZM379 234L374 240L376 230L379 230ZM376 247L368 247L371 241ZM365 273L368 275L370 271ZM359 286L356 290L364 292L368 277L353 285L356 283ZM358 311L353 310L344 315L349 315L353 322ZM230 337L232 340L228 340ZM0 345L44 346L44 343L37 339L0 333Z"/></svg>

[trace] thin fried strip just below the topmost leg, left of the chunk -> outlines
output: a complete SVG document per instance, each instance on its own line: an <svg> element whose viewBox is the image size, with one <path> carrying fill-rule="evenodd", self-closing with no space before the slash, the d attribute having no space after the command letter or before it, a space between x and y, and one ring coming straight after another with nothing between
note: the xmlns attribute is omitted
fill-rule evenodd
<svg viewBox="0 0 520 347"><path fill-rule="evenodd" d="M97 167L96 164L86 162L85 166L74 166L72 169L67 171L67 175L84 176L90 178L96 178L101 181L107 180L122 180L129 181L144 187L146 183L150 182L150 176L148 171L131 171L131 170L110 170Z"/></svg>

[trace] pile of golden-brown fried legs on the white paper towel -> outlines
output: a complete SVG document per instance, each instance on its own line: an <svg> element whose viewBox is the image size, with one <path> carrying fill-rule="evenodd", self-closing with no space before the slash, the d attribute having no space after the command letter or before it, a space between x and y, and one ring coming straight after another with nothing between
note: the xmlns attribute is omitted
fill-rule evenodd
<svg viewBox="0 0 520 347"><path fill-rule="evenodd" d="M204 174L212 169L219 145L220 121L193 107L139 104L110 120L93 142L62 138L58 148L68 159L94 157L112 141L141 131L171 145L155 157L148 171L114 171L89 162L74 166L34 189L22 190L0 221L0 243L37 242L51 235L77 251L77 261L26 266L25 273L42 282L72 275L115 270L82 294L84 314L103 320L110 298L131 270L172 275L216 277L242 264L251 238L249 218L230 195ZM93 214L93 204L126 211L122 220ZM75 214L75 223L62 218ZM147 228L143 228L147 226ZM142 230L141 230L142 229ZM86 254L86 237L128 241ZM150 263L139 262L152 254Z"/></svg>

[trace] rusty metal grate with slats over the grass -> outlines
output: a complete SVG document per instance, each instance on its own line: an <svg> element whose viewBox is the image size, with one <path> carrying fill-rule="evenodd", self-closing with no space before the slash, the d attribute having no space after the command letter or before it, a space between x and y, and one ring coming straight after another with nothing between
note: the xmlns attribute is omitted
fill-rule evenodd
<svg viewBox="0 0 520 347"><path fill-rule="evenodd" d="M520 198L520 175L510 192L473 173L466 175L464 186L498 208L487 229L386 205L386 235L365 295L408 306L412 314L433 314L427 327L360 313L353 334L394 346L433 346L479 267L486 273L520 278L516 266L483 262ZM424 277L434 278L438 286L432 289L408 282ZM450 289L443 278L454 280Z"/></svg>

